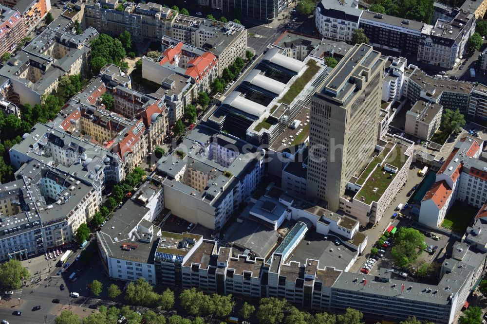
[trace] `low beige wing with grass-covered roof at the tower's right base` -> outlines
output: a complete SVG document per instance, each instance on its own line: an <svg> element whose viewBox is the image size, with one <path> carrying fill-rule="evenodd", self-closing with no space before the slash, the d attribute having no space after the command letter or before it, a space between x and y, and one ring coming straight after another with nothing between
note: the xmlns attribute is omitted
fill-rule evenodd
<svg viewBox="0 0 487 324"><path fill-rule="evenodd" d="M340 197L339 210L356 218L360 225L377 224L408 178L414 143L386 136L376 144L378 153L357 176L352 177Z"/></svg>

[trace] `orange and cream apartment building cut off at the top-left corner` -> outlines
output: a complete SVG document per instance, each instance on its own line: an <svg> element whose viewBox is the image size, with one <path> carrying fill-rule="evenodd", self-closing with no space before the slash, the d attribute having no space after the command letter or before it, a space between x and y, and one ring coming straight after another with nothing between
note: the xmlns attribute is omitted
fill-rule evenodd
<svg viewBox="0 0 487 324"><path fill-rule="evenodd" d="M51 0L0 0L0 3L20 13L26 34L51 11Z"/></svg>

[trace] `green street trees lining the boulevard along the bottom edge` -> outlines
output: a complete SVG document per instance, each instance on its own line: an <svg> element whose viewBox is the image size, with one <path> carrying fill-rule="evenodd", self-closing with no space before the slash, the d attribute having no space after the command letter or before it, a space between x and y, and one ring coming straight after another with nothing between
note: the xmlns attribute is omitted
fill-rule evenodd
<svg viewBox="0 0 487 324"><path fill-rule="evenodd" d="M97 280L94 280L89 285L91 292L98 296L102 290L103 285ZM121 294L120 289L116 285L111 285L108 288L108 296L116 298ZM158 306L164 310L174 308L174 293L168 288L162 294L158 294L152 290L152 286L143 278L138 279L135 283L130 283L125 300L134 305L155 307ZM185 309L187 315L196 316L191 321L181 316L173 315L166 319L162 315L157 315L152 311L144 314L133 312L129 306L124 306L117 310L115 307L106 308L100 307L99 313L94 313L83 319L82 322L75 314L70 311L61 313L56 318L56 324L104 324L114 323L113 319L117 320L118 316L123 315L128 319L128 323L141 323L143 319L146 323L157 324L203 324L205 323L202 316L211 315L219 319L225 319L229 316L235 302L232 300L232 295L208 295L195 288L185 289L179 296L180 305ZM256 307L245 302L239 310L239 316L243 320L248 320L256 311ZM326 312L312 315L306 311L301 311L297 307L288 303L285 299L278 299L275 297L262 298L260 305L256 312L256 317L259 323L266 324L362 324L363 314L353 308L347 308L343 314L329 314ZM468 315L468 318L472 315ZM224 323L224 322L222 322ZM460 322L463 324L474 322ZM423 324L416 318L408 318L401 324ZM425 322L424 324L430 324Z"/></svg>

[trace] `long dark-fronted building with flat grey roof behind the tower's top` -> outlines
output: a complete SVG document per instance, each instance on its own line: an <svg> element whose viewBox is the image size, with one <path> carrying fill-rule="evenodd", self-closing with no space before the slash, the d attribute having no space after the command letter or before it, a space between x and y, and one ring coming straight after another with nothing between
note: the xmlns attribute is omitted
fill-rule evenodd
<svg viewBox="0 0 487 324"><path fill-rule="evenodd" d="M415 55L424 23L363 11L360 28L375 48L394 51L401 56Z"/></svg>

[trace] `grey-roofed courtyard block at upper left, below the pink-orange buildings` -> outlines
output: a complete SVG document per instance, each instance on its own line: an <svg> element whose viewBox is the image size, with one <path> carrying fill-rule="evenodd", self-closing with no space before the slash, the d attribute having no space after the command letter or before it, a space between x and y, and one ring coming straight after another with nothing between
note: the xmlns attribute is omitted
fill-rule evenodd
<svg viewBox="0 0 487 324"><path fill-rule="evenodd" d="M57 18L0 69L0 75L12 83L9 98L13 103L40 104L45 95L57 90L61 77L84 71L88 44L98 33L88 28L74 35L73 26L73 21Z"/></svg>

